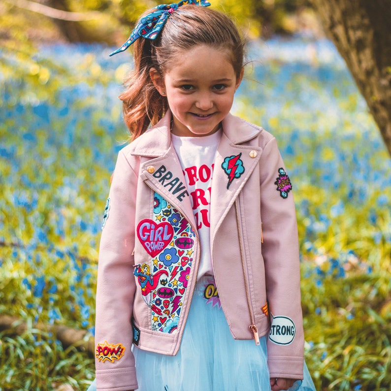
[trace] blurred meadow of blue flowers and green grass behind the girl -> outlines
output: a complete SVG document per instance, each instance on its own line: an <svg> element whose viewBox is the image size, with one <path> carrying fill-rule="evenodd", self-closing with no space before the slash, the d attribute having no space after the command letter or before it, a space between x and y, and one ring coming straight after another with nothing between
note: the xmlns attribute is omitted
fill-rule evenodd
<svg viewBox="0 0 391 391"><path fill-rule="evenodd" d="M0 50L0 389L85 390L93 358L38 324L94 333L100 226L129 54L99 45ZM306 360L317 390L391 384L391 160L334 47L248 47L234 114L277 138L293 182ZM87 334L88 337L89 334Z"/></svg>

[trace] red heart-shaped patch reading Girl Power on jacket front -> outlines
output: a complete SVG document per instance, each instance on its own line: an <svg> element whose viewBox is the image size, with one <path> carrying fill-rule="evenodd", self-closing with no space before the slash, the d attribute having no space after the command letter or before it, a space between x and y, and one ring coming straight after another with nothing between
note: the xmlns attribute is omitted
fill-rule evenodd
<svg viewBox="0 0 391 391"><path fill-rule="evenodd" d="M137 237L151 257L157 256L171 242L174 229L170 223L154 223L152 220L141 220L137 226Z"/></svg>

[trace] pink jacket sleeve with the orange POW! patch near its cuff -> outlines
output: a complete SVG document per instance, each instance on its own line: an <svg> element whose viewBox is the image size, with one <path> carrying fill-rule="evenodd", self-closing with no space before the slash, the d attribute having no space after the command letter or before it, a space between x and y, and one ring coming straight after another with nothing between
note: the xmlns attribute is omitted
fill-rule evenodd
<svg viewBox="0 0 391 391"><path fill-rule="evenodd" d="M131 352L137 176L120 151L99 247L95 355L97 390L137 389Z"/></svg>

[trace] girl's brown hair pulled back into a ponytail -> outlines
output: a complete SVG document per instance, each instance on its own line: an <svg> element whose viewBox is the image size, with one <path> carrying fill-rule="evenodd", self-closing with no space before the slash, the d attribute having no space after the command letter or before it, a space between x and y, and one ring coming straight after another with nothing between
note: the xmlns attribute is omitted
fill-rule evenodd
<svg viewBox="0 0 391 391"><path fill-rule="evenodd" d="M152 10L141 17L150 12ZM200 44L227 50L236 77L240 76L244 65L244 41L231 19L214 9L183 5L169 16L155 40L139 38L134 42L134 69L125 80L126 90L119 97L132 139L155 125L168 108L166 98L152 83L150 69L157 69L163 77L176 55Z"/></svg>

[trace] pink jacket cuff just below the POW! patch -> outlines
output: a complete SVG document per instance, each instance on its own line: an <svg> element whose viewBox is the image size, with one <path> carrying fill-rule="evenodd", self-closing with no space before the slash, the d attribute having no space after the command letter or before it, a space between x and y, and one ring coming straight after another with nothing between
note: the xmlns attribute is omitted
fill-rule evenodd
<svg viewBox="0 0 391 391"><path fill-rule="evenodd" d="M99 369L96 371L97 391L128 391L138 389L136 368ZM113 383L113 379L114 383Z"/></svg>

